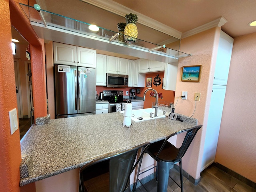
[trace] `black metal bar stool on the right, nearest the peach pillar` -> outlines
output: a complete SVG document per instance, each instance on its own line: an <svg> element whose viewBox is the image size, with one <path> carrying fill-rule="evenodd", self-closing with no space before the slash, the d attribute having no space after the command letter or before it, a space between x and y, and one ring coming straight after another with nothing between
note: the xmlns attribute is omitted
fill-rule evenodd
<svg viewBox="0 0 256 192"><path fill-rule="evenodd" d="M164 140L160 140L158 142L152 143L149 148L146 150L146 153L149 154L154 160L156 160L156 174L155 178L157 180L157 191L158 192L167 192L167 186L168 186L168 178L169 171L172 165L179 162L180 164L180 185L174 181L173 178L171 178L180 188L183 192L183 179L182 179L182 161L181 158L186 153L188 147L190 146L192 140L196 136L196 133L198 130L202 127L202 125L194 126L192 128L188 128L185 130L180 130L178 132L175 132L168 136ZM176 136L181 133L186 133L186 136L182 142L182 145L180 148L176 148L174 145L172 145L170 142L168 142L168 139L170 139L173 136ZM141 165L142 159L139 164L139 170ZM152 169L152 168L151 168ZM150 169L149 169L150 170ZM148 170L146 170L148 171ZM144 171L144 172L146 172ZM144 173L143 172L143 173ZM138 179L139 171L137 173L136 182L134 183L133 191L136 190L137 182L140 180ZM141 183L141 182L140 182ZM141 183L142 184L142 183ZM144 185L142 184L144 187ZM145 188L145 187L144 187ZM148 191L145 188L146 191Z"/></svg>

